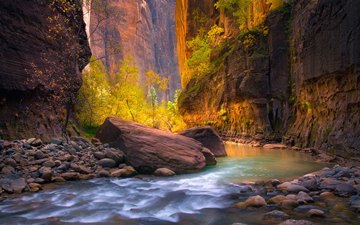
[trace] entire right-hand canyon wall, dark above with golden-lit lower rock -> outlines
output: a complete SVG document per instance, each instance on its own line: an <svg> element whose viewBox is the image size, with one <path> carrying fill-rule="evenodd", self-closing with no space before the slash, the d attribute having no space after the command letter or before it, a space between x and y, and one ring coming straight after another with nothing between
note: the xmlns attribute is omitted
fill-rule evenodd
<svg viewBox="0 0 360 225"><path fill-rule="evenodd" d="M216 73L190 77L179 101L185 121L234 136L283 137L292 145L342 156L358 152L359 10L356 0L289 1L267 14L266 32L239 36L226 26L234 18L215 11L209 20L230 38L212 50ZM194 36L186 29L178 33L184 30L186 43ZM179 55L186 63L191 53L179 45L185 46Z"/></svg>

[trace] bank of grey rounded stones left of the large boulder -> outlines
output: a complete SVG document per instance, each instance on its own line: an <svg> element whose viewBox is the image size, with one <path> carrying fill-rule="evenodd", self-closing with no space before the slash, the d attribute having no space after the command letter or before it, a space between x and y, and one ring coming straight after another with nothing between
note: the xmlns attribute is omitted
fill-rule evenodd
<svg viewBox="0 0 360 225"><path fill-rule="evenodd" d="M37 192L44 184L96 177L129 177L137 171L125 164L124 153L97 139L0 140L1 196ZM157 171L162 175L161 171Z"/></svg>

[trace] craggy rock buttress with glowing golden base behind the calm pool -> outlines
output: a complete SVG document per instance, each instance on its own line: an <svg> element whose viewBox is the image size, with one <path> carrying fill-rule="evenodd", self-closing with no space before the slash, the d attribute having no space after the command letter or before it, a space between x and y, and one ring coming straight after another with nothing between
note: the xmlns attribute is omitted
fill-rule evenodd
<svg viewBox="0 0 360 225"><path fill-rule="evenodd" d="M192 78L180 98L180 111L191 126L211 124L220 131L240 134L281 130L288 110L289 14L275 12L266 24L269 34L250 33L220 50L218 73ZM255 42L247 44L249 38Z"/></svg>

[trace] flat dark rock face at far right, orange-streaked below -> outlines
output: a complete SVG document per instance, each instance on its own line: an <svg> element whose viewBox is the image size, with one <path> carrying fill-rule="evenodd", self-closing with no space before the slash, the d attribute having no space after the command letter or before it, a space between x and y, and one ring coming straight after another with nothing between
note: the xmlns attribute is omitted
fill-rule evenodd
<svg viewBox="0 0 360 225"><path fill-rule="evenodd" d="M360 146L360 2L296 1L292 76L297 97L288 131L296 144L348 155Z"/></svg>

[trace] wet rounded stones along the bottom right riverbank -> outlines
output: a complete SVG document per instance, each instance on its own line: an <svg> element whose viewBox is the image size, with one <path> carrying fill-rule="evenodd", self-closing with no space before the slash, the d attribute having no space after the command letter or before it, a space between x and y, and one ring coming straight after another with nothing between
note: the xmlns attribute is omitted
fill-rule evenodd
<svg viewBox="0 0 360 225"><path fill-rule="evenodd" d="M356 217L356 213L360 220L359 167L336 165L292 181L243 183L239 184L239 189L238 198L241 201L235 207L241 210L262 209L262 219L268 224L341 224L344 220L336 216L349 214L351 221L351 216Z"/></svg>

